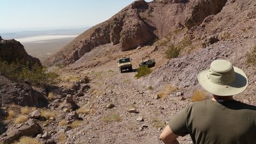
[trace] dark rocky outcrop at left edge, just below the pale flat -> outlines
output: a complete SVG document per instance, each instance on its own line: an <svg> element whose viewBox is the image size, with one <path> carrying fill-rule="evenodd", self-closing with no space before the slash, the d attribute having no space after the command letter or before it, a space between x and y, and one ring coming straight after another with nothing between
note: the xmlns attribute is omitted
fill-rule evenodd
<svg viewBox="0 0 256 144"><path fill-rule="evenodd" d="M38 58L29 56L25 51L24 46L16 40L3 40L0 38L0 59L12 63L18 61L25 65L29 62L29 65L42 66Z"/></svg>

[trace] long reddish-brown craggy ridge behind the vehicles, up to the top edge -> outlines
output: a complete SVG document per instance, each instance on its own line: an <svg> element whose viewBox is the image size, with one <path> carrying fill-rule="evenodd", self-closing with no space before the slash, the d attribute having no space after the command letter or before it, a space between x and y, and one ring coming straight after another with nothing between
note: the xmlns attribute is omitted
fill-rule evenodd
<svg viewBox="0 0 256 144"><path fill-rule="evenodd" d="M94 26L70 42L45 61L45 65L68 65L79 60L100 45L118 45L116 49L128 51L138 45L151 45L171 31L202 23L205 17L219 13L225 1L172 1L155 0L147 3L135 1L111 19Z"/></svg>

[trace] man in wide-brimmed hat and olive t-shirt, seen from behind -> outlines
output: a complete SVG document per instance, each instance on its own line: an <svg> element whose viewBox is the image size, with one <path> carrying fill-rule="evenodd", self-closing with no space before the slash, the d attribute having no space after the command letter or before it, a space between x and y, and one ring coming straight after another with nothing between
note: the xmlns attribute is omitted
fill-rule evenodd
<svg viewBox="0 0 256 144"><path fill-rule="evenodd" d="M179 143L178 136L190 134L196 144L256 143L256 106L233 99L246 89L243 70L227 60L215 60L209 70L198 74L200 85L212 100L194 102L168 122L160 135L164 143Z"/></svg>

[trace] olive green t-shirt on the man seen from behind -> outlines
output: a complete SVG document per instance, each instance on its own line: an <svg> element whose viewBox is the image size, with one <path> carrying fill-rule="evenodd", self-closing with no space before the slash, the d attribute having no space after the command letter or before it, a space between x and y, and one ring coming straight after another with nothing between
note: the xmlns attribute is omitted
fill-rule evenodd
<svg viewBox="0 0 256 144"><path fill-rule="evenodd" d="M194 102L168 122L195 144L256 144L256 106L236 100Z"/></svg>

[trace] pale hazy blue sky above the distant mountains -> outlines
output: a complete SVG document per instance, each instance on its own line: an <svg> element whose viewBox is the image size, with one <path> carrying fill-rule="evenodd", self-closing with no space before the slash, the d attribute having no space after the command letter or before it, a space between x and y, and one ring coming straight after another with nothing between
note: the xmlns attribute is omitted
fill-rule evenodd
<svg viewBox="0 0 256 144"><path fill-rule="evenodd" d="M0 0L0 33L15 30L94 26L108 20L133 1Z"/></svg>

